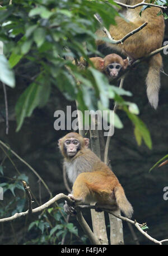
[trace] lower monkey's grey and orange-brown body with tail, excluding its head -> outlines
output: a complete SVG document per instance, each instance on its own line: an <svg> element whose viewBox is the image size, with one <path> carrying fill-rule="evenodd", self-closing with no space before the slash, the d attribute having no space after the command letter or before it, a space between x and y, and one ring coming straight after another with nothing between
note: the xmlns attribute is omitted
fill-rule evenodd
<svg viewBox="0 0 168 256"><path fill-rule="evenodd" d="M69 179L74 183L72 195L77 201L95 202L100 208L119 207L127 217L132 216L133 208L125 197L122 185L113 171L90 149L83 148L73 159L66 160L64 165Z"/></svg>

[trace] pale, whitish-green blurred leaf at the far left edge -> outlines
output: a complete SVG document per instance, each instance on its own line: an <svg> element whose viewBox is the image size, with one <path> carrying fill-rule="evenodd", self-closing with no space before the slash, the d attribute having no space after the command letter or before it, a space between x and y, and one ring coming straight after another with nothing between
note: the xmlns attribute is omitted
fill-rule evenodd
<svg viewBox="0 0 168 256"><path fill-rule="evenodd" d="M0 55L0 80L12 88L15 87L13 71L4 55Z"/></svg>

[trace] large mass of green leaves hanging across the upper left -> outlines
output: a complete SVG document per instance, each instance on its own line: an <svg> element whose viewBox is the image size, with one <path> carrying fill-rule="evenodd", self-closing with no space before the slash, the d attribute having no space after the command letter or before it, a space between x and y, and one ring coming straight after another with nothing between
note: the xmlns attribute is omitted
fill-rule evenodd
<svg viewBox="0 0 168 256"><path fill-rule="evenodd" d="M109 87L108 80L100 72L94 68L80 70L72 64L73 58L83 56L88 60L92 54L100 55L95 45L95 31L100 24L94 14L99 13L103 25L109 28L110 24L115 24L118 15L114 4L112 0L16 0L10 6L8 1L4 3L0 17L4 55L14 71L24 66L21 70L29 76L28 86L24 86L25 91L16 103L16 131L21 129L24 119L30 117L35 108L42 108L48 102L55 86L68 100L77 99L82 111L96 111L100 106L101 110L110 111L109 101L113 99L127 114L138 113L135 104L122 100L123 90ZM14 86L13 73L7 66L5 68L8 73L2 72L1 75L0 72L0 79ZM115 127L122 128L118 115L115 117ZM146 127L141 129L138 122L133 124L136 138L141 137ZM150 136L144 142L150 145ZM138 143L141 144L141 139Z"/></svg>

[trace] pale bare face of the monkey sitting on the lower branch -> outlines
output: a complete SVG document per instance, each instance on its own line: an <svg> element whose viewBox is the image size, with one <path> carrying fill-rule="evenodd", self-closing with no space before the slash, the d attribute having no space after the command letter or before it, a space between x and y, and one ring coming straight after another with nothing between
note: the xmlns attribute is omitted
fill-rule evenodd
<svg viewBox="0 0 168 256"><path fill-rule="evenodd" d="M80 148L80 141L78 141L76 138L68 138L66 141L64 141L64 151L69 157L75 156Z"/></svg>

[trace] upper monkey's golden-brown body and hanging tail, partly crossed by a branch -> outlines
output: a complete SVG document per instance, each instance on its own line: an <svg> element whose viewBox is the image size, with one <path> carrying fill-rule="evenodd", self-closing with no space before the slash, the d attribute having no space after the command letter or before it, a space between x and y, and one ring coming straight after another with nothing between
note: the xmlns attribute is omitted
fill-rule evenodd
<svg viewBox="0 0 168 256"><path fill-rule="evenodd" d="M118 2L134 5L142 2L142 0L119 0ZM150 3L151 1L148 0L146 2ZM162 15L158 16L161 9L156 7L146 8L146 10L142 11L140 16L139 12L141 9L142 6L134 9L123 7L122 10L120 10L120 13L129 22L122 17L116 16L116 26L110 25L109 28L111 37L114 40L119 40L129 32L144 24L144 22L148 22L146 27L136 34L129 36L123 44L108 43L108 46L119 50L133 60L145 57L153 50L160 48L164 39L164 17ZM96 34L101 37L106 36L105 32L102 30L98 30ZM100 44L104 44L104 42L97 40L97 45ZM147 63L149 67L146 78L147 96L150 104L156 109L158 106L158 92L160 89L160 69L162 68L161 54L158 53L153 55L147 60Z"/></svg>

